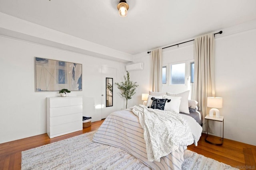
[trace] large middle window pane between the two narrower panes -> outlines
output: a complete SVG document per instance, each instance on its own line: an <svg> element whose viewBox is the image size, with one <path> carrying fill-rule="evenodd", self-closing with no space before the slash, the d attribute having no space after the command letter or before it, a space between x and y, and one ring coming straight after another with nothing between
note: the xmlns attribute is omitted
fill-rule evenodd
<svg viewBox="0 0 256 170"><path fill-rule="evenodd" d="M185 84L185 63L171 65L171 84Z"/></svg>

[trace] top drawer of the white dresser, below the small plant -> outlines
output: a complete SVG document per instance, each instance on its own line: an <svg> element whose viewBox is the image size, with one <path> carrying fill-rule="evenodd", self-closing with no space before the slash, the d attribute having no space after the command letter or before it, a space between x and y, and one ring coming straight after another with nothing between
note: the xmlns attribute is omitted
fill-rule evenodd
<svg viewBox="0 0 256 170"><path fill-rule="evenodd" d="M82 105L82 97L50 98L50 108Z"/></svg>

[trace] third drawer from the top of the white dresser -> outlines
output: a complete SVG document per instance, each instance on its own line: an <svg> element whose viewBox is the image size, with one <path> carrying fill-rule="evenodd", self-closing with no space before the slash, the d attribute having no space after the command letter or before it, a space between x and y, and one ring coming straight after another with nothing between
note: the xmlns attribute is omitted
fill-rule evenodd
<svg viewBox="0 0 256 170"><path fill-rule="evenodd" d="M64 124L64 123L70 123L70 122L79 121L82 119L83 119L82 112L70 114L70 115L51 117L50 118L50 126L60 125L60 124Z"/></svg>

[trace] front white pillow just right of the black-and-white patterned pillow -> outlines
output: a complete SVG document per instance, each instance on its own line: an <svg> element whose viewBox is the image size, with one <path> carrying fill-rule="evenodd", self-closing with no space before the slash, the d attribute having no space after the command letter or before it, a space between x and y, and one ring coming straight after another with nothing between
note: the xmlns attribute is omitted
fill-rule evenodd
<svg viewBox="0 0 256 170"><path fill-rule="evenodd" d="M163 96L164 99L170 99L170 102L166 102L164 106L164 110L166 111L175 111L176 113L180 113L180 101L182 97L173 97L173 96Z"/></svg>

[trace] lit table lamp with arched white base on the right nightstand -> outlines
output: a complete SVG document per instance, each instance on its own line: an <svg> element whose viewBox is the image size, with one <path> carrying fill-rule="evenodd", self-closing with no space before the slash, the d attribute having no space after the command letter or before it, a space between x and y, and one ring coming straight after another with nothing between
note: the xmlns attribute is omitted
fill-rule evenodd
<svg viewBox="0 0 256 170"><path fill-rule="evenodd" d="M210 109L210 112L209 112L210 117L213 117L214 112L216 117L220 117L220 111L216 108L222 108L222 98L208 97L207 107L212 107L212 109Z"/></svg>

